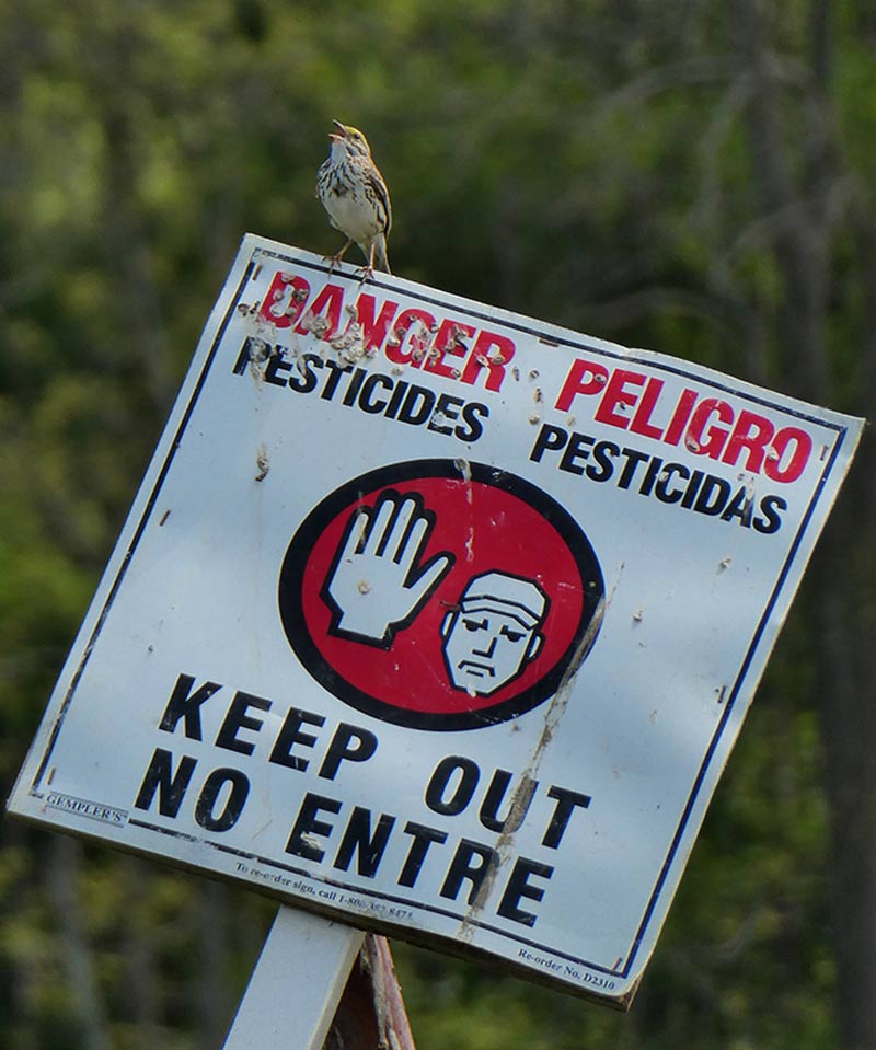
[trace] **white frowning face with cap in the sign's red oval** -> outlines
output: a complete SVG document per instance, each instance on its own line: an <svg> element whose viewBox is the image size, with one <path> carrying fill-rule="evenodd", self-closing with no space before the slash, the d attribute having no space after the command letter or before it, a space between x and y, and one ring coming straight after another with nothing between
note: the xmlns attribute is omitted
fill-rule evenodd
<svg viewBox="0 0 876 1050"><path fill-rule="evenodd" d="M548 596L532 580L506 573L471 579L441 625L443 656L454 689L488 696L522 673L544 636Z"/></svg>

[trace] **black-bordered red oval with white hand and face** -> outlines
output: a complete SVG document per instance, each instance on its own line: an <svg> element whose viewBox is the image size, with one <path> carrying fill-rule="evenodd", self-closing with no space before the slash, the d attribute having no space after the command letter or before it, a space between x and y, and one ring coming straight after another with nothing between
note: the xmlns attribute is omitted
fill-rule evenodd
<svg viewBox="0 0 876 1050"><path fill-rule="evenodd" d="M286 636L335 696L385 722L473 729L554 695L599 630L593 549L552 497L452 460L327 496L280 570Z"/></svg>

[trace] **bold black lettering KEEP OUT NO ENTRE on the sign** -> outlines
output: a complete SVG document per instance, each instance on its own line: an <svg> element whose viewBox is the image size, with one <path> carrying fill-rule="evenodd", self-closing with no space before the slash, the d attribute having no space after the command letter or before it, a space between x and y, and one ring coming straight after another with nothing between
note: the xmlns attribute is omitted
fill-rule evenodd
<svg viewBox="0 0 876 1050"><path fill-rule="evenodd" d="M180 674L164 707L159 730L203 741L201 709L227 692L218 682L196 685ZM260 735L274 708L270 700L238 690L227 702L214 746L238 755L260 755L268 763L296 773L310 771L316 781L335 781L345 763L373 759L379 748L374 732L348 723L333 729L324 716L290 706L278 728ZM276 720L272 720L276 725ZM187 799L194 799L194 819L205 831L230 831L240 819L250 796L250 775L238 766L221 766L195 777L198 760L155 748L140 784L134 808L155 808L162 817L176 819ZM534 904L544 897L554 873L548 859L555 854L576 815L588 809L591 798L556 784L540 785L530 777L512 784L514 774L497 769L484 775L465 755L442 758L423 787L423 800L436 820L405 819L397 814L373 814L367 806L350 805L314 783L301 796L291 818L284 852L314 864L330 862L338 872L354 870L361 879L415 889L425 870L440 886L439 897L465 908L489 905L511 922L533 926ZM195 785L199 783L199 787ZM316 789L318 788L318 789ZM487 841L454 834L452 818L476 818ZM499 855L499 840L517 831L525 820L538 829L542 858ZM469 824L471 820L469 821ZM403 843L401 864L384 870L388 846ZM395 854L399 856L399 851ZM505 863L508 862L508 863ZM389 863L389 862L388 862ZM502 870L500 870L502 869Z"/></svg>

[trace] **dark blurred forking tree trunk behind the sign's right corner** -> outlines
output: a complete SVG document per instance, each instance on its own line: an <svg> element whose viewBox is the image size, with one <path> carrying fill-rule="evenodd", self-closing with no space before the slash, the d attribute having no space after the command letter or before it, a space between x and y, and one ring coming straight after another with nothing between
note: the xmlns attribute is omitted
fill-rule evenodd
<svg viewBox="0 0 876 1050"><path fill-rule="evenodd" d="M876 227L834 142L831 109L831 4L814 0L806 81L796 86L799 127L782 119L779 70L764 11L758 0L736 0L741 57L752 78L747 111L752 175L772 223L773 254L784 284L776 318L781 380L795 395L818 404L842 400L831 361L828 315L835 290L834 253L841 232L856 249L869 286L867 345L858 356L853 408L876 396ZM802 141L794 151L791 141ZM843 229L840 230L840 223ZM864 395L863 397L861 395ZM876 535L873 441L865 438L855 469L826 529L809 579L816 641L817 689L831 809L830 868L837 959L837 1012L843 1050L876 1047Z"/></svg>

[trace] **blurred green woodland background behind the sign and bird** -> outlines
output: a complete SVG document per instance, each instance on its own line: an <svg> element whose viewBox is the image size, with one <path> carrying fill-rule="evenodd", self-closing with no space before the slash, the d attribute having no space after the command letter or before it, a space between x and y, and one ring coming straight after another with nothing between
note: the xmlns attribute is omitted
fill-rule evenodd
<svg viewBox="0 0 876 1050"><path fill-rule="evenodd" d="M3 788L240 236L339 247L332 118L390 184L396 273L866 415L874 46L851 0L4 0ZM874 1050L838 936L876 930L872 824L842 835L874 734L838 736L822 616L871 706L869 442L632 1013L397 945L422 1050ZM0 846L0 1050L221 1045L273 904L9 821Z"/></svg>

